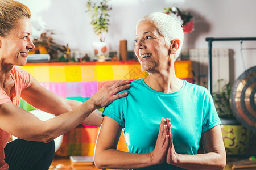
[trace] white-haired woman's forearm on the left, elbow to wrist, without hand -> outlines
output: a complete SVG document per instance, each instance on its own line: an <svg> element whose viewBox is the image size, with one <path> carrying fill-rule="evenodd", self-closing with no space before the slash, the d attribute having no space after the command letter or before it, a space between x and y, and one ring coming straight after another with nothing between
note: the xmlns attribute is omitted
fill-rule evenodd
<svg viewBox="0 0 256 170"><path fill-rule="evenodd" d="M154 165L150 153L133 154L115 149L96 150L94 163L100 169L138 169Z"/></svg>

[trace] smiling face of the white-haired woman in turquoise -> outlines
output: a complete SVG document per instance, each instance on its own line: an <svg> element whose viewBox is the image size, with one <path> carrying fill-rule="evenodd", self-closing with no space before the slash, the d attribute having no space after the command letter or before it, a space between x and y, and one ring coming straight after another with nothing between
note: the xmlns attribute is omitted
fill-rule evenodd
<svg viewBox="0 0 256 170"><path fill-rule="evenodd" d="M146 21L137 26L134 52L143 71L159 73L168 69L169 50L154 24Z"/></svg>

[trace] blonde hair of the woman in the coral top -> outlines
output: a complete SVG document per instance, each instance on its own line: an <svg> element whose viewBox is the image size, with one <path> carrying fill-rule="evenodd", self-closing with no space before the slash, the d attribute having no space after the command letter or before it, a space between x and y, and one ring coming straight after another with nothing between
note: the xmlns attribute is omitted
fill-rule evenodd
<svg viewBox="0 0 256 170"><path fill-rule="evenodd" d="M14 0L0 1L0 36L7 36L18 25L18 20L30 18L30 9Z"/></svg>

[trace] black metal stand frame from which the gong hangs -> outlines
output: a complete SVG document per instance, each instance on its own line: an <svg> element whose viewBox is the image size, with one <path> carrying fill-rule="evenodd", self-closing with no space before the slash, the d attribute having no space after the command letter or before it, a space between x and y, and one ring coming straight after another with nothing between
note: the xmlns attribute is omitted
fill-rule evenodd
<svg viewBox="0 0 256 170"><path fill-rule="evenodd" d="M208 90L212 94L212 42L213 41L256 41L256 37L240 37L240 38L211 38L208 37L205 39L208 41Z"/></svg>

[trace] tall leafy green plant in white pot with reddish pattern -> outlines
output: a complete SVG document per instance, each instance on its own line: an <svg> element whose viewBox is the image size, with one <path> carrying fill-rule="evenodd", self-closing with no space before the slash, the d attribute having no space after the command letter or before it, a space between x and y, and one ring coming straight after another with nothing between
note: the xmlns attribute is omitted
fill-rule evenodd
<svg viewBox="0 0 256 170"><path fill-rule="evenodd" d="M108 5L108 0L88 0L87 8L94 33L100 39L100 42L93 42L94 54L98 61L105 61L109 56L109 45L105 42L106 33L108 33L109 14L112 8Z"/></svg>

